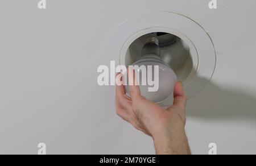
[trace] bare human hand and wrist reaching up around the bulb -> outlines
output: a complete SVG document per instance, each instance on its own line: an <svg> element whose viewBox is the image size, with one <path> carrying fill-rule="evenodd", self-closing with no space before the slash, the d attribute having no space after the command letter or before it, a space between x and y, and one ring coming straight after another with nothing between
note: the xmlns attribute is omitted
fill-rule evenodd
<svg viewBox="0 0 256 166"><path fill-rule="evenodd" d="M129 80L131 75L134 76L129 74ZM175 85L174 105L167 110L141 96L139 86L129 86L129 97L126 95L125 86L119 85L116 87L115 97L117 114L137 130L152 136L157 154L191 153L184 130L187 97L181 82Z"/></svg>

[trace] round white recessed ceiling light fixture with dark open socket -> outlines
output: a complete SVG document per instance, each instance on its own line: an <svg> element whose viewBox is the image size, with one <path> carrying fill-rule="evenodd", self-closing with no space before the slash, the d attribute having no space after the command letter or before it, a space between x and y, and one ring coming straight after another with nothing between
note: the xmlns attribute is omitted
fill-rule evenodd
<svg viewBox="0 0 256 166"><path fill-rule="evenodd" d="M186 16L156 12L127 19L109 36L104 63L115 60L127 67L136 63L141 60L143 42L149 37L158 39L160 59L183 82L188 98L196 96L213 75L216 52L204 28ZM160 105L172 105L172 100L170 94Z"/></svg>

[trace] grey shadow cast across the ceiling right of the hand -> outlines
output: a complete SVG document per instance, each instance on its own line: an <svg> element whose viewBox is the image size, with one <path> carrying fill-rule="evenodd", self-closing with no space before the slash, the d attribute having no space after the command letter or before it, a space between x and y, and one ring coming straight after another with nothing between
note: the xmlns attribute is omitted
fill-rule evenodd
<svg viewBox="0 0 256 166"><path fill-rule="evenodd" d="M248 119L256 123L256 98L242 89L222 89L209 82L198 96L188 101L187 115L207 119Z"/></svg>

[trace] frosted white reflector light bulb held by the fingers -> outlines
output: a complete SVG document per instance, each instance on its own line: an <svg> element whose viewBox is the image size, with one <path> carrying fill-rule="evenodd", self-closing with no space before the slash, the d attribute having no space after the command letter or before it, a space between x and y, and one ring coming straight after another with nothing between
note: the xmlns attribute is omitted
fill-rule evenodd
<svg viewBox="0 0 256 166"><path fill-rule="evenodd" d="M154 66L159 67L159 89L156 92L149 92L148 88L150 86L148 84L141 84L142 77L139 77L139 81L137 80L137 82L139 82L142 96L152 102L160 103L172 95L177 82L177 76L174 70L171 69L170 65L164 63L160 58L159 41L157 38L150 37L146 39L144 47L142 48L142 58L133 64L133 66L135 65L138 67L141 67L142 65L146 67L151 65L152 68L154 68ZM152 73L152 80L154 80L154 72Z"/></svg>

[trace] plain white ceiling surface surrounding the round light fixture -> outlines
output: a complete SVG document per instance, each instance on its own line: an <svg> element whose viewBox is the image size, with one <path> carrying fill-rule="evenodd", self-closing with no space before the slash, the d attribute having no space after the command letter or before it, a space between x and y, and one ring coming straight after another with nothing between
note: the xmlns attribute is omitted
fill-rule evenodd
<svg viewBox="0 0 256 166"><path fill-rule="evenodd" d="M0 5L0 153L154 153L151 138L115 114L114 87L97 85L110 32L130 16L172 11L207 30L212 81L188 102L193 153L255 153L256 1L4 0ZM154 20L152 20L154 21Z"/></svg>

